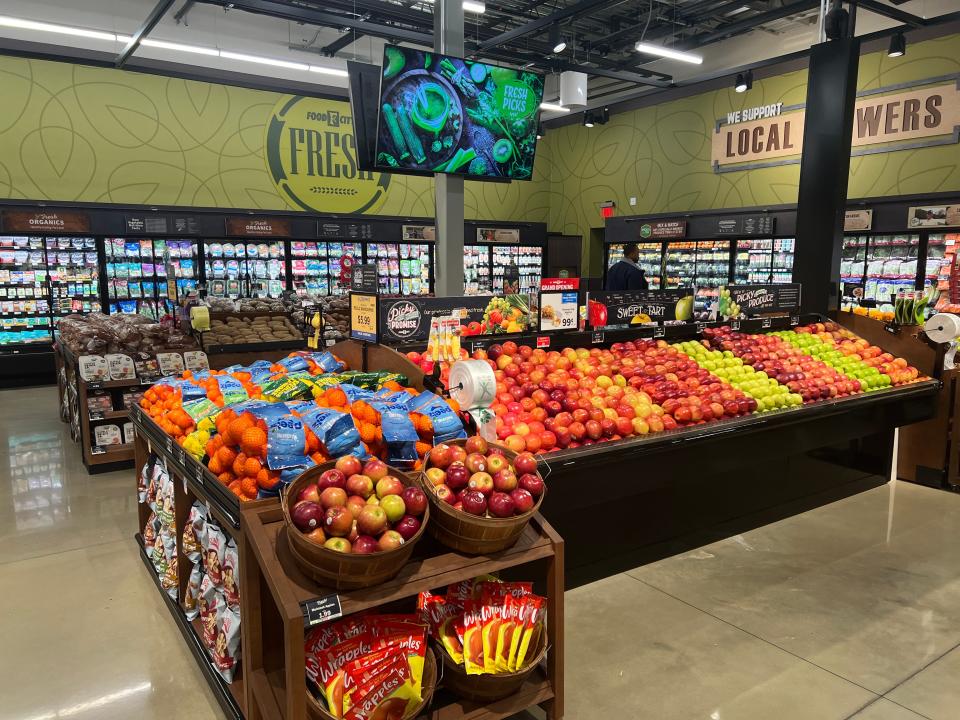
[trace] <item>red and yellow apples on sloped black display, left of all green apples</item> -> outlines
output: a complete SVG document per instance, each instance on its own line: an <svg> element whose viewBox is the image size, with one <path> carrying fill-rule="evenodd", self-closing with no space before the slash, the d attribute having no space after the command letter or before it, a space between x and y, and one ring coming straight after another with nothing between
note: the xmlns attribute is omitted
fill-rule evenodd
<svg viewBox="0 0 960 720"><path fill-rule="evenodd" d="M474 353L495 370L497 437L516 452L589 446L746 415L757 401L663 340Z"/></svg>

